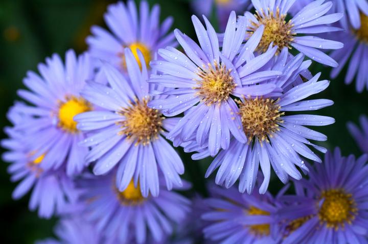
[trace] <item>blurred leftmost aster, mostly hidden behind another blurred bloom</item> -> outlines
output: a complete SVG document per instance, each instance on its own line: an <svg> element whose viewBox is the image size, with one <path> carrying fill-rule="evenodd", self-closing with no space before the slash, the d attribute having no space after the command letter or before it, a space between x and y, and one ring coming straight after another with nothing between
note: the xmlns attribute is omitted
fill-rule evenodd
<svg viewBox="0 0 368 244"><path fill-rule="evenodd" d="M38 208L40 217L50 218L60 214L68 204L74 203L78 195L63 167L47 171L42 167L45 154L34 158L36 152L28 148L34 138L17 127L25 120L34 119L24 114L25 107L25 104L18 103L8 114L15 127L5 128L9 138L3 139L1 145L9 151L3 154L3 160L10 162L8 173L11 174L11 181L20 181L13 191L13 199L20 199L33 188L29 209L34 211Z"/></svg>

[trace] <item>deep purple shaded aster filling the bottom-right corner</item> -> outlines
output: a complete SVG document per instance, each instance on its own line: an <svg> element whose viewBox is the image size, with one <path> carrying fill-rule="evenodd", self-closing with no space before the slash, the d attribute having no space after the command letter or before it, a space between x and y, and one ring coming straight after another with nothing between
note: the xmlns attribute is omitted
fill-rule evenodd
<svg viewBox="0 0 368 244"><path fill-rule="evenodd" d="M340 150L314 164L310 179L295 183L296 196L278 216L287 221L283 243L367 243L367 155L355 160Z"/></svg>

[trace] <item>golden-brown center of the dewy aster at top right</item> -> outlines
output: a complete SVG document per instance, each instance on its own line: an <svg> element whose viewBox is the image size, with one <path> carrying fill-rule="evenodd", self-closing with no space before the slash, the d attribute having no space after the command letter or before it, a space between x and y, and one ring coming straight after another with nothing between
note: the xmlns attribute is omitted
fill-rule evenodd
<svg viewBox="0 0 368 244"><path fill-rule="evenodd" d="M270 12L263 16L256 11L255 17L258 23L251 22L250 34L254 33L261 25L264 25L264 31L257 49L261 52L266 52L268 46L273 42L273 45L279 46L278 53L284 48L291 49L290 42L294 39L295 33L292 32L291 20L285 21L286 14L280 15L280 9L277 8L276 13Z"/></svg>

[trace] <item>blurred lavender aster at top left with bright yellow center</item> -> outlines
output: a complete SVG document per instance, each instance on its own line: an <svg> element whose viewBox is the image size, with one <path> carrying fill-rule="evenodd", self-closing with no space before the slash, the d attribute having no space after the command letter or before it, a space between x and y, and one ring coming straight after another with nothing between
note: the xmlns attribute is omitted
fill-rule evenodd
<svg viewBox="0 0 368 244"><path fill-rule="evenodd" d="M175 44L174 34L168 34L173 18L166 18L160 25L159 12L158 5L150 11L146 1L141 1L139 13L132 0L126 5L122 2L111 4L104 17L112 33L98 26L91 28L93 36L86 39L91 57L125 70L124 48L129 47L139 65L138 50L148 66L158 48Z"/></svg>

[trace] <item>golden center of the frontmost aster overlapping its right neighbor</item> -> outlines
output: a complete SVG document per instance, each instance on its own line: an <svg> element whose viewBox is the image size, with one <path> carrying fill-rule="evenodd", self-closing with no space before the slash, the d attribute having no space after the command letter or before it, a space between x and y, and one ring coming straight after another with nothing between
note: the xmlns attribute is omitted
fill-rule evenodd
<svg viewBox="0 0 368 244"><path fill-rule="evenodd" d="M197 95L202 98L202 102L207 105L213 103L221 103L228 99L230 94L236 87L233 77L230 75L231 69L226 69L225 65L214 64L215 68L211 64L208 64L208 69L200 70L198 76L202 80L197 81L199 87Z"/></svg>

